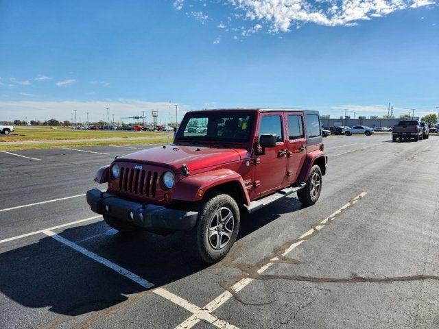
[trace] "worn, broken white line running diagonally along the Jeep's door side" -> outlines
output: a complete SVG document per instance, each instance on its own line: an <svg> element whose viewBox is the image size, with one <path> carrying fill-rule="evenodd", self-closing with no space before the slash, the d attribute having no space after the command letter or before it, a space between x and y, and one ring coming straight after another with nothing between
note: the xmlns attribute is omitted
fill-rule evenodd
<svg viewBox="0 0 439 329"><path fill-rule="evenodd" d="M315 226L316 230L320 231L322 228L324 228L326 223L331 218L333 218L333 217L339 215L340 213L346 211L348 208L351 208L351 206L353 206L354 204L359 202L359 200L361 198L363 198L364 196L366 196L367 194L368 193L363 192L363 193L360 193L359 195L357 195L356 197L354 197L351 200L351 202L348 202L348 204L345 204L344 206L342 206L342 208L340 208L337 211L333 212L333 214L331 214L329 217L327 217L327 218L323 219L322 221L320 221L320 223L318 223L318 225ZM314 232L314 230L311 229L308 232L306 232L305 234L302 234L297 239L296 243L293 243L287 249L285 249L285 251L283 252L282 256L286 256L294 248L296 248L298 245L303 243L305 241L305 239L307 239L307 237L309 237L311 234L313 234L313 232ZM278 257L274 257L274 258L270 259L270 262L265 264L265 265L263 265L262 267L260 267L257 272L259 274L263 273L264 271L266 271L267 269L272 267L272 265L274 264L272 262L275 262L278 259L279 259ZM239 291L244 289L248 284L250 284L253 280L254 279L252 279L252 278L243 278L243 279L239 280L237 283L233 284L232 289L233 289L233 291L235 291L235 293L238 293ZM222 306L225 302L230 300L231 297L233 297L233 295L229 291L224 291L224 293L222 293L221 295L216 297L214 300L212 300L212 302L210 302L209 304L204 306L203 309L209 311L209 313L212 313L214 310L219 308L219 306ZM193 314L189 318L187 318L185 321L183 321L181 324L176 326L176 329L183 329L183 328L184 329L189 329L189 328L192 328L193 326L195 326L195 324L198 324L198 322L200 322L200 319L198 319L196 317L196 315Z"/></svg>

